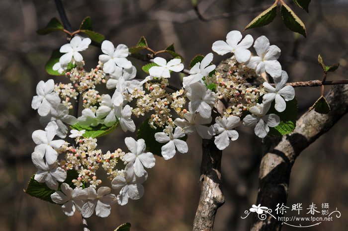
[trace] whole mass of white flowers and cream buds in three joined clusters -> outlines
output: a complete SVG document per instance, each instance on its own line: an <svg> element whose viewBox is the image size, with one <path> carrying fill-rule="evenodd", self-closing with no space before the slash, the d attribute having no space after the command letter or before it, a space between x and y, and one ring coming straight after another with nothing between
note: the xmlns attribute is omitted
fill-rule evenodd
<svg viewBox="0 0 348 231"><path fill-rule="evenodd" d="M60 52L64 55L53 69L71 82L40 81L32 100L32 108L38 110L40 122L45 126L44 131L37 130L32 135L37 145L32 153L38 168L34 179L56 190L51 199L62 204L68 216L78 210L84 217L90 217L94 211L97 216L106 217L112 204L125 205L129 199L141 198L142 183L148 177L146 168L154 167L156 162L148 152L152 147L147 148L143 139L125 138L128 152L97 149L97 139L90 132L93 129L111 131L119 125L124 132L135 132L132 116L149 114L146 121L160 131L147 138L161 146L165 159L174 157L176 151L187 153L185 138L195 133L202 139L214 139L216 147L224 150L238 139L236 129L241 125L255 126L255 134L265 137L269 127L280 123L278 115L269 113L270 107L274 105L275 111L283 112L286 101L295 95L293 87L286 85L288 76L277 61L280 49L270 45L264 36L254 43L251 35L243 39L239 31L231 31L226 42L216 41L212 46L219 55L231 55L228 71L216 71L211 63L213 53L209 53L193 64L179 89L172 87L171 75L183 70L180 59L167 61L156 57L149 69L150 76L138 80L136 68L127 59L128 47L120 44L115 48L107 40L101 44L103 54L96 68L86 71L80 52L90 42L76 36L63 45ZM253 43L257 56L249 50ZM272 77L274 85L267 81L257 83L266 74ZM113 93L96 90L101 83ZM69 113L79 109L73 107L71 99L82 102L84 109L78 118ZM134 108L129 104L133 100ZM223 109L216 108L219 103L224 105ZM54 140L56 135L66 138L68 125L79 130L71 130L67 141ZM100 187L100 166L111 188L119 190L117 196L110 187ZM66 179L71 171L78 176L69 182Z"/></svg>

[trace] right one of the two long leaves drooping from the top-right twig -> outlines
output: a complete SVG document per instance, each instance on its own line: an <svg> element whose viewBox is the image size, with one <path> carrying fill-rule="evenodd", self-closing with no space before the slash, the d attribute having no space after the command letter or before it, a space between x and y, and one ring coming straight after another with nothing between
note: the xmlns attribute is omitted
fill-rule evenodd
<svg viewBox="0 0 348 231"><path fill-rule="evenodd" d="M290 7L282 3L280 8L281 18L287 28L293 32L297 32L306 37L306 27L301 21L301 19L290 9Z"/></svg>

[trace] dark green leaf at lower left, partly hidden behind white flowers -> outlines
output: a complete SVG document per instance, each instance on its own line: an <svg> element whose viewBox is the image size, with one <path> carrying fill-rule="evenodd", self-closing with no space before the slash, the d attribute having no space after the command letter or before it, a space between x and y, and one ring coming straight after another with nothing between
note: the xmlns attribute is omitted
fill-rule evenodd
<svg viewBox="0 0 348 231"><path fill-rule="evenodd" d="M24 190L27 194L30 196L39 198L44 201L48 201L51 203L54 203L51 199L51 194L56 192L56 190L52 190L49 187L47 187L46 183L39 183L34 179L35 174L30 178L28 182L27 188ZM72 180L77 179L79 176L79 173L74 170L68 170L67 172L67 179L62 183L67 183L70 185L70 187L75 187ZM61 184L59 183L58 191L61 191Z"/></svg>

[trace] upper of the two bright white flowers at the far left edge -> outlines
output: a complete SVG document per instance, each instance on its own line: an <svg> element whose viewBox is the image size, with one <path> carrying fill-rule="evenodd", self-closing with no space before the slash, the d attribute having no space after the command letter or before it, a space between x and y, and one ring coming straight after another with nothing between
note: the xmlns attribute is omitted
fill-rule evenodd
<svg viewBox="0 0 348 231"><path fill-rule="evenodd" d="M54 90L53 79L48 79L47 82L40 81L36 86L36 94L31 101L31 107L38 109L40 116L46 116L52 107L58 106L61 102L59 95Z"/></svg>

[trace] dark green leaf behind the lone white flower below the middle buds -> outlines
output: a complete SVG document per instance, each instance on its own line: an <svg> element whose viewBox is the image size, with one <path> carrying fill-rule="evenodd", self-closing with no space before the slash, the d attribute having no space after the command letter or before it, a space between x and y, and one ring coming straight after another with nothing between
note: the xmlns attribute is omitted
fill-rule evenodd
<svg viewBox="0 0 348 231"><path fill-rule="evenodd" d="M146 144L146 150L147 152L150 152L155 155L162 156L161 149L162 146L166 145L159 143L155 139L155 134L158 132L163 132L163 128L157 127L156 129L150 127L149 119L146 119L140 126L137 132L137 138L138 139L144 139ZM182 138L179 138L180 140L186 141L187 135L185 135Z"/></svg>

